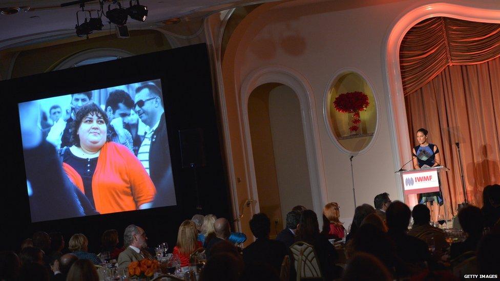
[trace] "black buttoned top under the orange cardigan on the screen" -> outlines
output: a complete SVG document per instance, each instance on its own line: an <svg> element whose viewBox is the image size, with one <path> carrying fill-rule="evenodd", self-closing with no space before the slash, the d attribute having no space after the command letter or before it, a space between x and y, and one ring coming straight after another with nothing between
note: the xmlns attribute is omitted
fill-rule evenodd
<svg viewBox="0 0 500 281"><path fill-rule="evenodd" d="M95 208L94 196L92 194L92 178L94 177L95 167L97 166L96 158L79 158L76 157L71 149L66 149L63 156L63 162L73 167L80 175L81 180L84 182L85 196L89 199L92 206Z"/></svg>

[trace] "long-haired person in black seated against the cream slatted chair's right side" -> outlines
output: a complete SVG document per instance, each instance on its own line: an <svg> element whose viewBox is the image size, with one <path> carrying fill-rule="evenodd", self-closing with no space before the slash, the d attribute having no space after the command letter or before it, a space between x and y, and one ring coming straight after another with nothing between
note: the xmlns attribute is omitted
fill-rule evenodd
<svg viewBox="0 0 500 281"><path fill-rule="evenodd" d="M335 266L338 254L335 251L334 245L325 236L320 234L318 217L313 210L302 212L295 240L306 242L314 247L321 271L326 280L340 276L340 271Z"/></svg>

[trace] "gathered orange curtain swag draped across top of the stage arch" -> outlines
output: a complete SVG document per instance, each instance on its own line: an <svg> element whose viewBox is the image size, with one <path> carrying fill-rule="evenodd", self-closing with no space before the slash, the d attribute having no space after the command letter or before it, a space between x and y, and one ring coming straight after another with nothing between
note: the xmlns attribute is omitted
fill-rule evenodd
<svg viewBox="0 0 500 281"><path fill-rule="evenodd" d="M449 65L483 63L500 55L500 24L433 17L413 26L400 47L405 95Z"/></svg>

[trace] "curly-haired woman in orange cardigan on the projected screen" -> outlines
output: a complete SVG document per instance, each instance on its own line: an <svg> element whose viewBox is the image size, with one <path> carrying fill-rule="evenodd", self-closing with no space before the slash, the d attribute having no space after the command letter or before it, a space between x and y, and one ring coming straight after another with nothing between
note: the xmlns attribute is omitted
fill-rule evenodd
<svg viewBox="0 0 500 281"><path fill-rule="evenodd" d="M99 213L150 208L156 189L148 172L126 146L108 141L107 124L93 102L78 110L74 145L61 148L66 174Z"/></svg>

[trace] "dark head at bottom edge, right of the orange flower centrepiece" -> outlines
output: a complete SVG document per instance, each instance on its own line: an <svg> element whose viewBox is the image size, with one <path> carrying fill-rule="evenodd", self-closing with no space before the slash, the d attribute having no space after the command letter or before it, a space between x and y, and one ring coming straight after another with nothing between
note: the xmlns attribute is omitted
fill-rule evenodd
<svg viewBox="0 0 500 281"><path fill-rule="evenodd" d="M243 267L230 253L217 253L209 258L201 271L200 281L239 281Z"/></svg>

